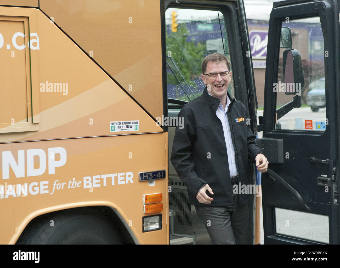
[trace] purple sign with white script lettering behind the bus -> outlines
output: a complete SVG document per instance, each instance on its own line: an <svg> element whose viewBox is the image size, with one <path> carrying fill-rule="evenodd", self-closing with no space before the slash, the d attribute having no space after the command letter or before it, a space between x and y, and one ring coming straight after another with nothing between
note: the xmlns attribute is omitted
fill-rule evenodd
<svg viewBox="0 0 340 268"><path fill-rule="evenodd" d="M266 59L268 30L251 30L249 40L253 59Z"/></svg>

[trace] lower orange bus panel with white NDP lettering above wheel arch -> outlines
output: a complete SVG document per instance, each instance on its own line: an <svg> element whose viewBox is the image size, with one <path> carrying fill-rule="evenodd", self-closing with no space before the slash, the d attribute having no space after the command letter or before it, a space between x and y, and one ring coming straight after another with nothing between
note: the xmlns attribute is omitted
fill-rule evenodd
<svg viewBox="0 0 340 268"><path fill-rule="evenodd" d="M141 218L143 194L161 192L167 222L167 180L138 180L138 172L166 169L165 144L165 133L2 144L18 165L1 158L1 243L15 242L12 236L39 214L89 205L117 209L140 243L166 243L167 229L142 233Z"/></svg>

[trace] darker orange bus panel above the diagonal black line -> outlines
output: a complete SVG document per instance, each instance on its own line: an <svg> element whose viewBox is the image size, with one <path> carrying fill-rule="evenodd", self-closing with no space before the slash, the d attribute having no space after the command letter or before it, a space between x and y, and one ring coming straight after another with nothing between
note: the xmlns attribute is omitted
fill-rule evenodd
<svg viewBox="0 0 340 268"><path fill-rule="evenodd" d="M41 0L40 9L154 118L162 116L160 1Z"/></svg>

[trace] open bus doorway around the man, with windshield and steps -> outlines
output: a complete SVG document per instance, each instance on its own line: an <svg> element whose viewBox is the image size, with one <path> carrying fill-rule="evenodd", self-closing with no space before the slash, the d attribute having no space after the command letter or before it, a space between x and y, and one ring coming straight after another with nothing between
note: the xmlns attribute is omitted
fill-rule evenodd
<svg viewBox="0 0 340 268"><path fill-rule="evenodd" d="M256 132L256 97L250 45L242 0L166 0L165 46L163 47L163 77L167 90L168 107L165 129L169 137L169 222L170 244L211 243L204 223L195 207L189 204L186 186L179 179L170 156L177 119L183 105L202 95L205 87L201 77L201 63L208 54L218 52L231 60L233 79L228 92L249 110L251 127ZM169 120L169 123L166 121ZM255 168L250 163L249 182L255 184ZM248 202L248 244L254 244L255 195Z"/></svg>

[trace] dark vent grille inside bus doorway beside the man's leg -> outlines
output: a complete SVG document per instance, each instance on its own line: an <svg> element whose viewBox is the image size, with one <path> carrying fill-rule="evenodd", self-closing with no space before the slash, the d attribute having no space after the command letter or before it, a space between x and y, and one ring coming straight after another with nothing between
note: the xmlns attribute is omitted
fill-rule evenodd
<svg viewBox="0 0 340 268"><path fill-rule="evenodd" d="M191 205L187 192L169 193L169 204L176 207L176 224L191 226Z"/></svg>

